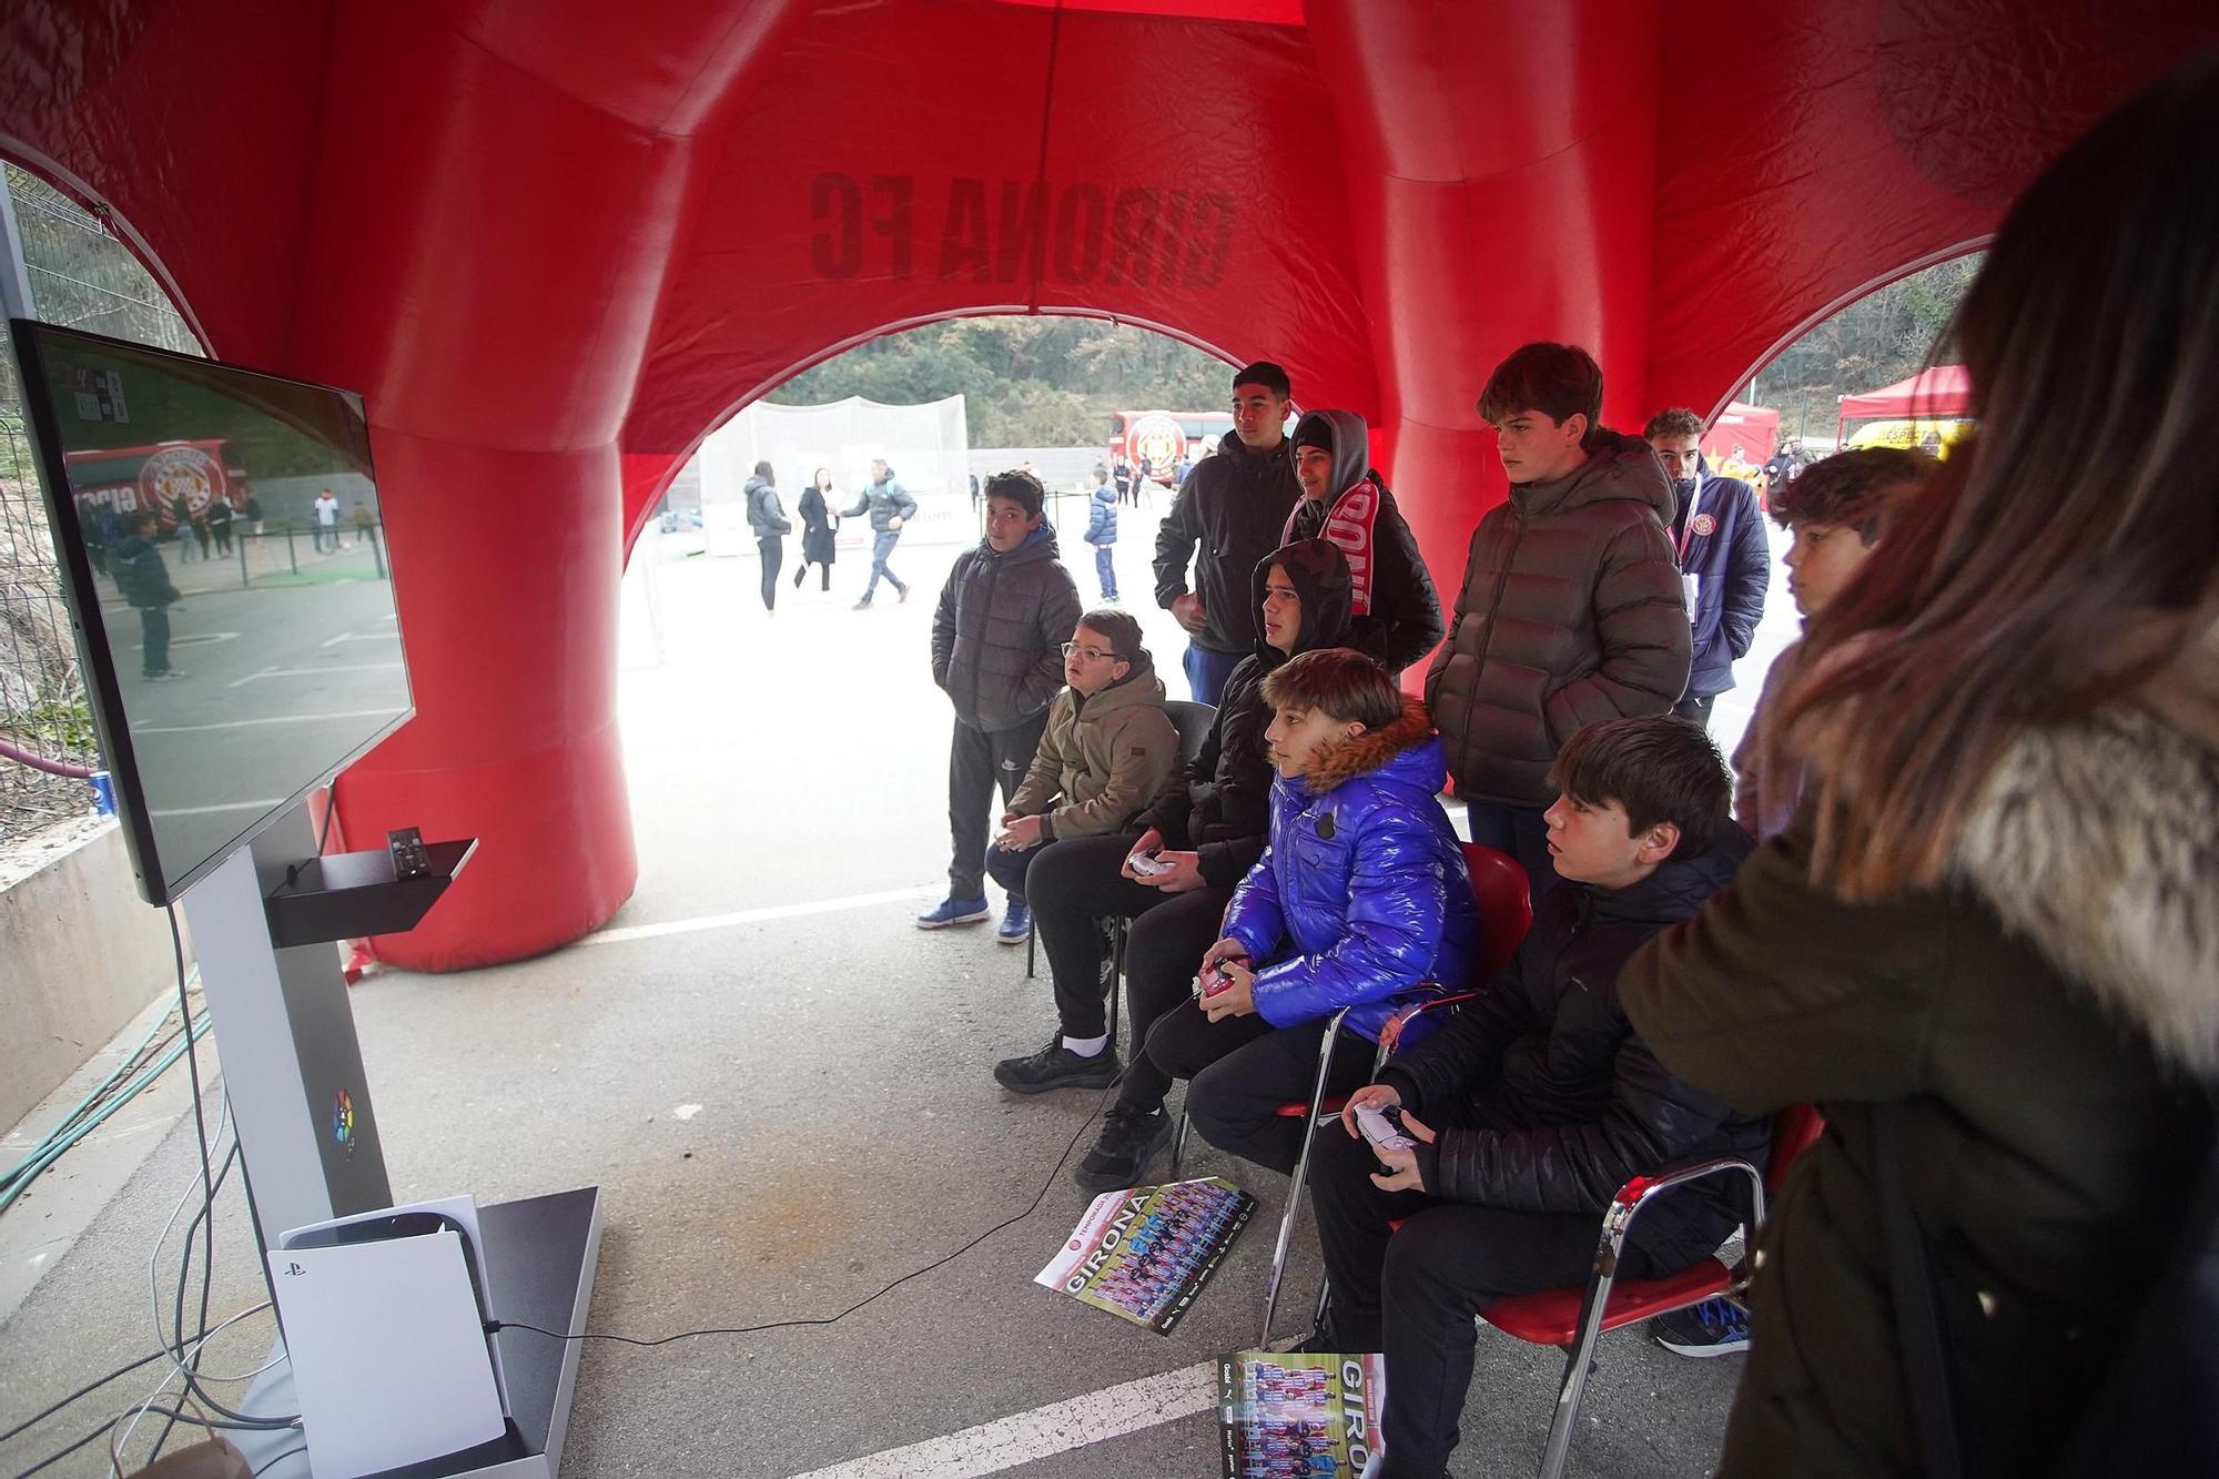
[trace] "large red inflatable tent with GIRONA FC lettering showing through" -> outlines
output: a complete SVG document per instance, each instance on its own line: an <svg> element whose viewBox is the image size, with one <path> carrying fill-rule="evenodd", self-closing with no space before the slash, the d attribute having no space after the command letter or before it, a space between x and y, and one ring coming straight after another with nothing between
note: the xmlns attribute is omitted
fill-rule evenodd
<svg viewBox="0 0 2219 1479"><path fill-rule="evenodd" d="M794 371L965 313L1276 358L1453 591L1502 353L1589 346L1615 424L1722 406L2215 40L2177 0L13 0L0 149L211 353L366 395L417 720L340 822L482 837L382 946L453 968L630 895L626 542Z"/></svg>

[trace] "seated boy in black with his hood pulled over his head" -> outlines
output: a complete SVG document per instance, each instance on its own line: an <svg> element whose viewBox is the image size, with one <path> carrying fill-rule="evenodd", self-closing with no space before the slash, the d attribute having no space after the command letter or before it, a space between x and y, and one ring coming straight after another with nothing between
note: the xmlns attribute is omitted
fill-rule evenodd
<svg viewBox="0 0 2219 1479"><path fill-rule="evenodd" d="M1274 569L1285 571L1291 591L1267 604ZM1263 640L1225 680L1194 764L1172 773L1132 831L1056 842L1034 859L1025 891L1054 975L1061 1026L1038 1053L994 1066L1003 1088L1023 1095L1103 1088L1118 1075L1103 1010L1096 919L1132 919L1125 1002L1134 1044L1147 1042L1156 1019L1189 999L1203 953L1218 939L1225 904L1263 857L1271 826L1274 771L1263 737L1271 706L1263 700L1263 680L1296 653L1347 640L1347 560L1323 540L1274 551L1252 575L1252 611ZM1169 873L1141 877L1127 864L1134 853L1152 853ZM1103 1115L1101 1139L1074 1170L1081 1186L1136 1184L1147 1157L1169 1137L1163 1113L1169 1088L1169 1075L1136 1053L1118 1101Z"/></svg>

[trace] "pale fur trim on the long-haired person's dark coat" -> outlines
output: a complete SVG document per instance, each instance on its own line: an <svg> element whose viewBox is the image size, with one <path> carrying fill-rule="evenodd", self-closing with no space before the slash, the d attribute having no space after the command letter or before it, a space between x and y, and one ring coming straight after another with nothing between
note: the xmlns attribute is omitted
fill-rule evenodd
<svg viewBox="0 0 2219 1479"><path fill-rule="evenodd" d="M2219 622L2132 697L2013 740L1951 853L2013 933L2219 1077Z"/></svg>

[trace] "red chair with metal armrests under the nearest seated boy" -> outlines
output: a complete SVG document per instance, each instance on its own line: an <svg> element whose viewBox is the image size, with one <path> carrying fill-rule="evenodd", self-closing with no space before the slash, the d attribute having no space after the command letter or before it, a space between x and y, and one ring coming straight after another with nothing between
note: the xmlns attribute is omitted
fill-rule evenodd
<svg viewBox="0 0 2219 1479"><path fill-rule="evenodd" d="M1618 1257L1627 1244L1627 1230L1644 1206L1660 1193L1711 1177L1735 1173L1749 1177L1751 1221L1746 1241L1755 1244L1755 1232L1764 1224L1764 1195L1777 1193L1789 1166L1820 1137L1826 1124L1808 1104L1793 1104L1773 1115L1773 1146L1766 1168L1760 1173L1742 1157L1720 1157L1700 1166L1682 1166L1653 1177L1633 1177L1611 1197L1602 1215L1602 1237L1595 1241L1595 1266L1584 1288L1549 1288L1533 1295L1511 1295L1496 1299L1480 1310L1480 1319L1504 1335L1536 1346L1562 1346L1564 1381L1556 1392L1556 1419L1549 1423L1549 1443L1542 1448L1540 1479L1558 1479L1571 1455L1571 1430L1580 1415L1580 1399L1587 1395L1587 1372L1595 1364L1595 1341L1620 1326L1631 1326L1651 1315L1669 1315L1691 1304L1702 1304L1720 1295L1740 1299L1749 1288L1753 1264L1744 1259L1737 1268L1711 1257L1693 1268L1682 1268L1662 1279L1620 1279Z"/></svg>

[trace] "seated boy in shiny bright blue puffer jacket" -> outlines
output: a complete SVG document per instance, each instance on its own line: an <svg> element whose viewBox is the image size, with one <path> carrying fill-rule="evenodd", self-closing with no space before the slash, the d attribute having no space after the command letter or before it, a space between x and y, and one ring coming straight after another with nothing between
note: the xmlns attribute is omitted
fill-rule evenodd
<svg viewBox="0 0 2219 1479"><path fill-rule="evenodd" d="M1309 1097L1327 1022L1354 1008L1327 1075L1347 1093L1396 1010L1465 988L1478 917L1425 704L1345 646L1287 660L1263 697L1269 842L1203 955L1205 995L1158 1019L1147 1055L1192 1079L1203 1139L1289 1173L1307 1126L1276 1110Z"/></svg>

